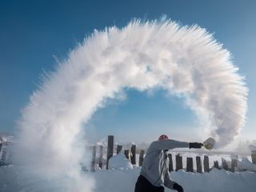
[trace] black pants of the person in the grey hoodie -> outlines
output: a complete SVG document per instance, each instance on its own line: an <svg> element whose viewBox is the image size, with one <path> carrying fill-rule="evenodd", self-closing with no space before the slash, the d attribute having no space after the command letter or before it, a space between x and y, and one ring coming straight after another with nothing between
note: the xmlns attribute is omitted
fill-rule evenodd
<svg viewBox="0 0 256 192"><path fill-rule="evenodd" d="M164 192L163 186L154 186L142 175L138 177L135 185L135 192Z"/></svg>

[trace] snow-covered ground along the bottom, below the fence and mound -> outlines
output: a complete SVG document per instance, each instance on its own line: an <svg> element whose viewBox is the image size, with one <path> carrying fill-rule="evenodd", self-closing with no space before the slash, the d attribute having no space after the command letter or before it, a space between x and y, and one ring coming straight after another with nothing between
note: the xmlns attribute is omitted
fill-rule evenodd
<svg viewBox="0 0 256 192"><path fill-rule="evenodd" d="M131 192L138 178L140 168L96 170L86 172L95 179L94 192ZM35 178L22 174L22 168L17 166L2 166L0 168L1 192L30 191L66 191L62 183L65 179L49 180ZM230 173L225 170L212 170L210 173L186 173L183 170L172 172L171 178L180 183L186 192L254 192L256 189L256 173L245 171ZM85 189L86 190L86 189ZM166 189L166 191L170 191Z"/></svg>

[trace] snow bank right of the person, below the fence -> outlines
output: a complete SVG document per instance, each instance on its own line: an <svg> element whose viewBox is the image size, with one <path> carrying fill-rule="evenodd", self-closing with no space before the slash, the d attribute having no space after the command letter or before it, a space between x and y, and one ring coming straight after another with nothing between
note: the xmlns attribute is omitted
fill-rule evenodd
<svg viewBox="0 0 256 192"><path fill-rule="evenodd" d="M180 170L171 177L184 186L186 192L252 192L256 187L256 174L252 172L230 173L214 169L210 173L194 174Z"/></svg>

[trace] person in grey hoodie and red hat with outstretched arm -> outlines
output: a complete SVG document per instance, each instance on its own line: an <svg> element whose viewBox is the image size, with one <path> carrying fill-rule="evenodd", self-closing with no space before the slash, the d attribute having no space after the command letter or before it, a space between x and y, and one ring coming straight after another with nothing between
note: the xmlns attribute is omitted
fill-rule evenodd
<svg viewBox="0 0 256 192"><path fill-rule="evenodd" d="M135 192L164 192L170 190L183 192L182 186L170 179L167 151L179 147L201 148L201 142L178 142L162 134L158 141L152 142L146 151L142 170L135 185Z"/></svg>

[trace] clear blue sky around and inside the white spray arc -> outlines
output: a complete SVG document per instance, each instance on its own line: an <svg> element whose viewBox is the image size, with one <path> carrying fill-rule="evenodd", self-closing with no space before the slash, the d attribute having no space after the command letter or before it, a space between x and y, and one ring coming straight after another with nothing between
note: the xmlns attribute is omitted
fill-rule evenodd
<svg viewBox="0 0 256 192"><path fill-rule="evenodd" d="M0 132L12 133L22 107L37 89L43 70L54 70L94 29L126 26L133 18L156 19L162 14L182 25L197 23L230 50L250 89L242 138L256 139L256 1L12 1L0 2ZM198 121L180 98L128 90L123 102L111 101L88 125L92 139L115 134L120 139L140 134L191 138ZM103 129L104 128L104 129ZM139 130L139 131L138 131ZM134 134L136 133L136 134ZM157 136L156 136L157 137Z"/></svg>

